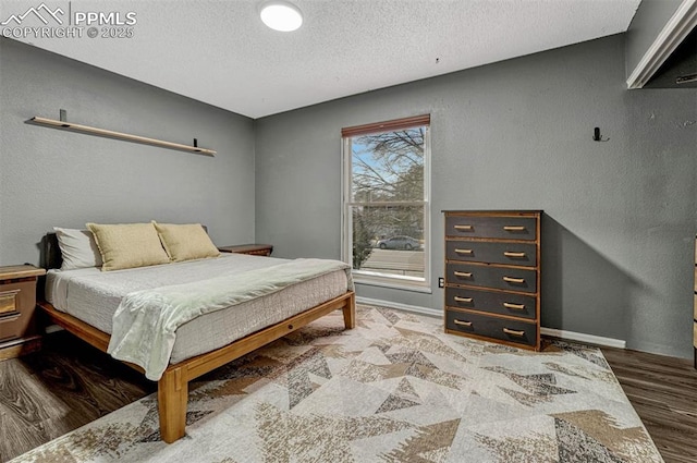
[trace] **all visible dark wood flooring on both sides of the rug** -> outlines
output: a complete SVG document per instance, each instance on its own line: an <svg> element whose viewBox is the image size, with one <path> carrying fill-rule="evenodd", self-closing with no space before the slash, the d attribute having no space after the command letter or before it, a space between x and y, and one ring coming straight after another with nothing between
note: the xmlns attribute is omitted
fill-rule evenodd
<svg viewBox="0 0 697 463"><path fill-rule="evenodd" d="M690 361L602 348L667 463L697 462L697 370ZM0 462L154 392L143 375L65 332L0 362Z"/></svg>

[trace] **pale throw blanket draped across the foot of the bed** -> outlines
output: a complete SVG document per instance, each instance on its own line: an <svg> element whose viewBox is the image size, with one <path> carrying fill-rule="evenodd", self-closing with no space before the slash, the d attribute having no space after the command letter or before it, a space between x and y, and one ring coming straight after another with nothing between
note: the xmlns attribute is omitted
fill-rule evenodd
<svg viewBox="0 0 697 463"><path fill-rule="evenodd" d="M114 358L143 367L146 378L157 381L169 364L180 326L199 315L342 269L348 278L347 290L353 290L351 267L345 263L296 259L209 280L130 293L113 315L107 352Z"/></svg>

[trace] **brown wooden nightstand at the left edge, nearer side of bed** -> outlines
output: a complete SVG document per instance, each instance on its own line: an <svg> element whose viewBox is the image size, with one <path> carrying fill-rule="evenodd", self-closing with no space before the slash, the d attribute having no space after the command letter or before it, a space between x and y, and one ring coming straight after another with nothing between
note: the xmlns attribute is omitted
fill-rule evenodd
<svg viewBox="0 0 697 463"><path fill-rule="evenodd" d="M41 346L34 309L36 282L46 270L30 265L0 267L0 361Z"/></svg>

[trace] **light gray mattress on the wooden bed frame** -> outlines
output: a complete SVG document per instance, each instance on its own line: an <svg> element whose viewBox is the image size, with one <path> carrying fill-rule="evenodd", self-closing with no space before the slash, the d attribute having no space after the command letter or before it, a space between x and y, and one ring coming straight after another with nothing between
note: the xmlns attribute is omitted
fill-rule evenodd
<svg viewBox="0 0 697 463"><path fill-rule="evenodd" d="M203 281L286 261L274 257L223 253L218 258L103 272L98 268L49 270L46 300L56 309L111 334L121 298L133 291ZM170 357L175 364L222 348L346 292L346 272L333 271L272 294L197 317L176 330Z"/></svg>

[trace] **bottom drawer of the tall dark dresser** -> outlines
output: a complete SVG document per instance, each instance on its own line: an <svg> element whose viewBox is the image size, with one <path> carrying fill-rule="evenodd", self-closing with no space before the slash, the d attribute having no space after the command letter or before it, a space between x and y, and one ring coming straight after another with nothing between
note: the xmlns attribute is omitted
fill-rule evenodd
<svg viewBox="0 0 697 463"><path fill-rule="evenodd" d="M537 325L457 310L445 310L445 329L525 345L537 345Z"/></svg>

